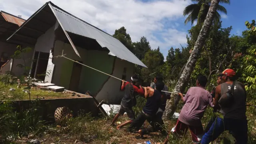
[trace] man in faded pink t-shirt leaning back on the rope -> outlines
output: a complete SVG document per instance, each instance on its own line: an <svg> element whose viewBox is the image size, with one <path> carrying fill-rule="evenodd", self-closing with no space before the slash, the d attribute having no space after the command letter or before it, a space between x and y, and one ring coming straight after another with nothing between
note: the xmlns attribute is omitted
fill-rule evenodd
<svg viewBox="0 0 256 144"><path fill-rule="evenodd" d="M205 90L207 78L205 76L198 76L196 86L188 89L186 96L183 97L182 93L178 93L181 100L185 103L180 111L177 124L172 128L171 132L184 135L190 130L192 140L196 144L200 144L201 138L204 134L201 118L208 104L213 107L212 95ZM164 144L167 144L168 138Z"/></svg>

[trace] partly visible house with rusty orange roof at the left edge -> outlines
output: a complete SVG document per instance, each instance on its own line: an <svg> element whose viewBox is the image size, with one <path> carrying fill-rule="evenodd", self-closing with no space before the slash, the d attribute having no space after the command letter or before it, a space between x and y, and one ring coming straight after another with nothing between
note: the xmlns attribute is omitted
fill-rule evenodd
<svg viewBox="0 0 256 144"><path fill-rule="evenodd" d="M12 35L26 20L21 16L14 16L4 11L0 11L0 74L5 74L6 71L11 70L12 59L17 43L6 42L6 39Z"/></svg>

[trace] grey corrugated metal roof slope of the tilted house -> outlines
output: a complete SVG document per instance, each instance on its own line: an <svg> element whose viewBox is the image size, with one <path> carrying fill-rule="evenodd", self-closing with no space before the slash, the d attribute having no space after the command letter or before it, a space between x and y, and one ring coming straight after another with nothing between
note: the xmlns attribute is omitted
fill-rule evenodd
<svg viewBox="0 0 256 144"><path fill-rule="evenodd" d="M76 18L68 12L64 12L51 2L49 2L49 6L52 7L56 18L65 31L95 39L100 46L103 48L108 48L110 55L116 56L122 60L127 60L128 62L132 62L134 64L138 64L140 66L147 67L132 52L130 52L128 48L126 48L113 36L88 24L87 22L84 22L83 20L80 20L79 18Z"/></svg>

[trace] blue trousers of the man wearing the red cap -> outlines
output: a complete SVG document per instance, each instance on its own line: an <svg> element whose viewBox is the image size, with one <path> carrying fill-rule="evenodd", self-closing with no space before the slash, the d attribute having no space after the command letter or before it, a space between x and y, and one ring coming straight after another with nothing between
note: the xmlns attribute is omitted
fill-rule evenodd
<svg viewBox="0 0 256 144"><path fill-rule="evenodd" d="M247 136L247 120L237 120L231 118L217 118L210 130L204 134L201 140L201 144L209 144L211 141L214 141L218 136L228 130L230 134L236 139L236 144L246 144L248 140Z"/></svg>

